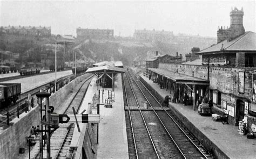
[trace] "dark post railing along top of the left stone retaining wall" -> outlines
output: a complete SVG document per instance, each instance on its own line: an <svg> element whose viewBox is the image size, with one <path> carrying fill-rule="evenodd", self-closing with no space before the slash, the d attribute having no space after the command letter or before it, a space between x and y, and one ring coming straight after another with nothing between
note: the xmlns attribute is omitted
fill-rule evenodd
<svg viewBox="0 0 256 159"><path fill-rule="evenodd" d="M71 81L73 81L73 79L77 78L78 76L81 76L84 74L77 74L77 75L72 75L70 77L64 78L64 79L59 79L56 83L56 91L60 90L61 88L63 88L63 86L69 84ZM34 106L36 106L34 97L32 97L33 95L36 95L36 93L40 92L41 90L38 90L36 92L33 92L33 94L31 95L31 101L30 101L30 105L29 105L29 100L28 98L24 99L24 101L19 101L14 108L12 108L11 110L5 111L5 113L2 116L2 122L5 123L6 125L10 125L10 121L13 120L14 118L19 118L19 115L21 115L24 112L29 112L31 110L31 108L33 108ZM42 91L48 92L48 93L55 93L55 82L50 82L49 85L45 86L45 89L43 89ZM28 94L30 92L26 92L28 96ZM24 102L24 103L22 103ZM30 109L29 109L30 108ZM0 123L1 123L1 119L0 119Z"/></svg>

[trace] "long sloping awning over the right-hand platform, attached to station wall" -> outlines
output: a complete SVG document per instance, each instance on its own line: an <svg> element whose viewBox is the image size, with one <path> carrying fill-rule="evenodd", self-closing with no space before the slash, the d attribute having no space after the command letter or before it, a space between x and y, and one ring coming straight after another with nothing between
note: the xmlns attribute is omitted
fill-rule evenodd
<svg viewBox="0 0 256 159"><path fill-rule="evenodd" d="M210 82L207 81L206 79L187 76L187 75L179 74L169 70L164 70L160 68L147 68L147 70L152 71L153 73L159 74L161 76L164 76L166 78L169 78L173 82L176 82L177 84L210 85Z"/></svg>

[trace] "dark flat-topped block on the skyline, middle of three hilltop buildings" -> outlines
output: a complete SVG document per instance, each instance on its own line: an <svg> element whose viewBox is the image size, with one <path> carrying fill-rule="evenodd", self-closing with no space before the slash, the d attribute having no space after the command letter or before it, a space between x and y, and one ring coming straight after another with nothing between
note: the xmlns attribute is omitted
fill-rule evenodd
<svg viewBox="0 0 256 159"><path fill-rule="evenodd" d="M111 39L114 37L114 30L77 28L77 39Z"/></svg>

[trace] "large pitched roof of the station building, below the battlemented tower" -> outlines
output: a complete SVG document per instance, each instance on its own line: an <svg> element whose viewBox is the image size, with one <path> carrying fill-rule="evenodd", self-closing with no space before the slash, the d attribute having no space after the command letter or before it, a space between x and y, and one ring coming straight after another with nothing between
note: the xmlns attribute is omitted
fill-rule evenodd
<svg viewBox="0 0 256 159"><path fill-rule="evenodd" d="M197 55L225 52L225 51L255 51L256 50L256 33L245 32L239 37L228 41L227 39L211 47L201 50Z"/></svg>

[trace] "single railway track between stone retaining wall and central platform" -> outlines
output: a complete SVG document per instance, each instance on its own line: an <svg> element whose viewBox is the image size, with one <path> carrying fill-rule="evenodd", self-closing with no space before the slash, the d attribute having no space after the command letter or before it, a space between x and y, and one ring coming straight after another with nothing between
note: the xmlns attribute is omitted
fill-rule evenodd
<svg viewBox="0 0 256 159"><path fill-rule="evenodd" d="M91 78L93 76L88 77L85 81L80 85L78 91L76 92L75 96L73 96L71 102L69 103L68 107L61 112L62 114L73 114L72 107L75 108L76 114L79 111L80 105L83 102L85 93L87 88L91 82ZM75 124L68 123L68 124L59 124L59 128L53 132L51 135L51 158L71 158L73 149L70 149L70 143L73 136L73 131L75 129ZM43 154L46 156L46 144L43 148ZM35 150L34 150L35 151ZM39 154L39 147L37 151L37 158Z"/></svg>

